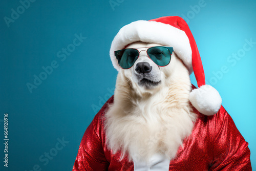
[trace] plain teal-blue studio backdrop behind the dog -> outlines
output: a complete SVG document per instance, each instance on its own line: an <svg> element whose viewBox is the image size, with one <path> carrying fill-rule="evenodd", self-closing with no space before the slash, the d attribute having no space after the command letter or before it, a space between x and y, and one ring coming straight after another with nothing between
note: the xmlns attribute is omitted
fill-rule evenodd
<svg viewBox="0 0 256 171"><path fill-rule="evenodd" d="M135 20L169 15L188 23L206 81L249 143L256 169L255 1L2 0L0 6L0 170L72 170L84 131L114 93L114 36ZM197 85L194 74L191 81Z"/></svg>

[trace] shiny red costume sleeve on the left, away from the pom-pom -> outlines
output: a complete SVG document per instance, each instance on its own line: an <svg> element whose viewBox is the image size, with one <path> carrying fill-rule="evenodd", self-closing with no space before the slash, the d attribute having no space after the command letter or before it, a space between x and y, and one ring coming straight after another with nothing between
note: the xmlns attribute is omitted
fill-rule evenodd
<svg viewBox="0 0 256 171"><path fill-rule="evenodd" d="M111 97L101 110L94 117L92 123L88 126L83 134L78 154L73 166L73 171L92 170L102 171L108 170L109 162L104 154L104 145L102 140L102 116L108 107L108 103L113 101Z"/></svg>

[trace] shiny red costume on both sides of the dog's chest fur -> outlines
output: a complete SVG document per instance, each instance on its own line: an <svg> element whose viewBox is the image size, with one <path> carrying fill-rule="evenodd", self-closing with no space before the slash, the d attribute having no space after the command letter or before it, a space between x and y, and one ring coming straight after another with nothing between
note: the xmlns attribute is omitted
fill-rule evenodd
<svg viewBox="0 0 256 171"><path fill-rule="evenodd" d="M112 154L105 144L104 114L112 96L94 117L84 133L73 166L78 170L134 170L127 156ZM193 132L183 141L169 170L251 170L250 150L232 118L221 106L213 116L198 114Z"/></svg>

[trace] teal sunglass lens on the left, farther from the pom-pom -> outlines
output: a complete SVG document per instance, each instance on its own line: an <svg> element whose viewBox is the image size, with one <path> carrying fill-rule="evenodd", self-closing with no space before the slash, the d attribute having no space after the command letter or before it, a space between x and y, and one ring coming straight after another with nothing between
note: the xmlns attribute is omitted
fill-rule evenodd
<svg viewBox="0 0 256 171"><path fill-rule="evenodd" d="M123 69L131 68L138 57L139 52L136 49L123 49L117 54L119 66Z"/></svg>

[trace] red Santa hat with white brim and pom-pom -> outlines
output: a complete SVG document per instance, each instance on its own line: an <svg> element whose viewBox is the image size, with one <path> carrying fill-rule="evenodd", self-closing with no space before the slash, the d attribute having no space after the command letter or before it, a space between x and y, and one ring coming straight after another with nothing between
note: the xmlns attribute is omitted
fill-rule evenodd
<svg viewBox="0 0 256 171"><path fill-rule="evenodd" d="M196 76L198 89L190 92L191 104L204 115L214 115L219 111L222 99L215 88L205 84L204 70L197 44L184 19L179 16L166 16L149 21L138 20L122 27L110 48L110 57L115 69L119 71L120 67L114 51L123 49L136 41L173 47L189 73L194 71Z"/></svg>

